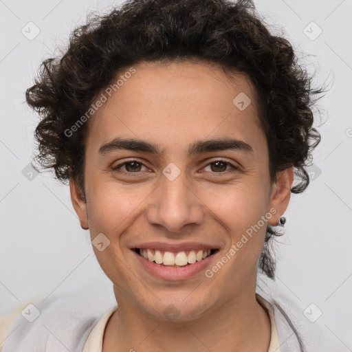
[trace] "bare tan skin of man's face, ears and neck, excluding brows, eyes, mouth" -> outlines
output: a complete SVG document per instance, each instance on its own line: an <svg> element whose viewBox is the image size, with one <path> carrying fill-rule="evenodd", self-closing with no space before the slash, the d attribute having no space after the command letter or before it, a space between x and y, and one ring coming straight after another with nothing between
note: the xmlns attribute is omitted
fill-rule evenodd
<svg viewBox="0 0 352 352"><path fill-rule="evenodd" d="M92 240L103 233L110 241L102 252L93 247L119 304L107 324L103 351L267 351L270 320L256 300L266 225L212 278L201 272L187 280L162 280L146 272L130 248L144 241L211 243L219 249L214 265L270 209L276 214L268 223L278 224L289 203L293 168L270 181L267 141L247 76L229 80L216 65L189 61L134 67L135 74L89 121L87 202L70 179L80 225L89 228ZM232 103L240 92L252 100L243 111ZM153 142L164 154L100 155L100 146L115 137ZM188 157L192 142L221 137L236 137L253 153ZM120 173L111 170L132 158L142 163L137 173L131 164ZM225 164L217 170L212 163L219 159L239 169ZM173 181L162 173L171 162L181 171ZM163 314L169 305L177 308L176 320Z"/></svg>

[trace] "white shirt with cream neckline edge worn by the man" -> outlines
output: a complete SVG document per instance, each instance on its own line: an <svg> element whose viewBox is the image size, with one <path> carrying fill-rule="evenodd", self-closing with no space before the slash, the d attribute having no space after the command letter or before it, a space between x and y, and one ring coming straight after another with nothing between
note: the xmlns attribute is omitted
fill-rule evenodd
<svg viewBox="0 0 352 352"><path fill-rule="evenodd" d="M297 300L265 277L258 281L256 294L270 316L269 352L338 351L340 340L327 333L324 317L313 323L305 316L311 302ZM107 322L118 309L109 282L87 283L65 296L52 294L31 303L34 309L22 305L0 318L1 352L101 352ZM40 314L33 317L29 310ZM35 319L30 322L29 316Z"/></svg>

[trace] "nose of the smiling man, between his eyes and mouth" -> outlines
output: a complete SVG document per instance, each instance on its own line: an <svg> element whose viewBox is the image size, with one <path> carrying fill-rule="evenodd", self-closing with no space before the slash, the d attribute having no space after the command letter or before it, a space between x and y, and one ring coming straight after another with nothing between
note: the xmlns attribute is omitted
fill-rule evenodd
<svg viewBox="0 0 352 352"><path fill-rule="evenodd" d="M183 174L173 181L162 176L146 209L148 223L162 225L168 232L179 232L188 224L201 224L204 219L203 203Z"/></svg>

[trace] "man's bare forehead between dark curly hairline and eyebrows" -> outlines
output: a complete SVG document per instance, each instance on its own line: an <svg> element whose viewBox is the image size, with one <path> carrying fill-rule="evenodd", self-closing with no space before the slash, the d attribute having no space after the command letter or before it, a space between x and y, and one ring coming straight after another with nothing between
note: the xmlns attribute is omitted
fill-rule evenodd
<svg viewBox="0 0 352 352"><path fill-rule="evenodd" d="M113 80L118 87L91 118L90 144L121 136L181 146L190 139L243 140L261 133L254 87L243 74L229 76L217 65L188 61L140 63L133 70ZM248 106L239 109L239 100Z"/></svg>

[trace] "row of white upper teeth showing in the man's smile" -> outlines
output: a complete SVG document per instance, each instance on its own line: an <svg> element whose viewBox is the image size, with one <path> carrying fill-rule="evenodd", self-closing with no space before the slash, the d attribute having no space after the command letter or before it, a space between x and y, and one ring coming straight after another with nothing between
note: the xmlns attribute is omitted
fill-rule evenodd
<svg viewBox="0 0 352 352"><path fill-rule="evenodd" d="M207 256L210 256L210 250L191 250L188 254L186 254L184 251L173 253L143 248L140 249L140 255L143 256L144 259L154 261L157 264L184 266L188 263L192 264L196 261L206 259Z"/></svg>

